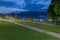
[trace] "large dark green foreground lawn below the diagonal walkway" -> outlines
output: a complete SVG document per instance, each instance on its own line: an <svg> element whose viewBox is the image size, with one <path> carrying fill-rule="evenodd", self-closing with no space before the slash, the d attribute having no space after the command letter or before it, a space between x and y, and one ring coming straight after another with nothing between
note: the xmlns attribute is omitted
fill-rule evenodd
<svg viewBox="0 0 60 40"><path fill-rule="evenodd" d="M0 40L60 40L60 39L0 20Z"/></svg>

